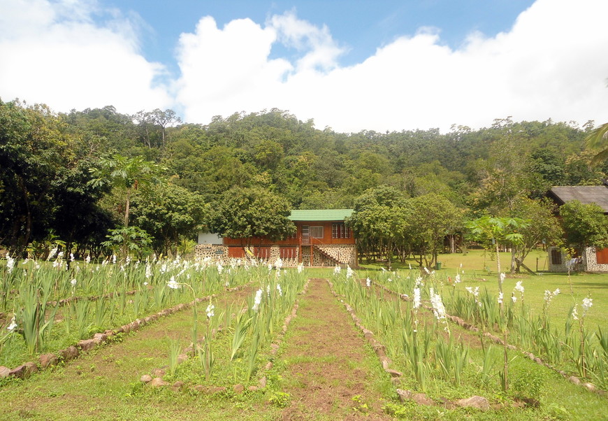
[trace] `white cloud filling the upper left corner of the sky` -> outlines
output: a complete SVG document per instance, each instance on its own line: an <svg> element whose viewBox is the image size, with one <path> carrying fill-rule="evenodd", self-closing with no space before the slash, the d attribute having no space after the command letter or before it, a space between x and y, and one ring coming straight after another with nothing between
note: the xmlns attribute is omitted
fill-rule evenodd
<svg viewBox="0 0 608 421"><path fill-rule="evenodd" d="M55 110L166 108L164 66L138 51L137 22L95 1L0 0L0 96ZM95 23L92 15L110 15Z"/></svg>

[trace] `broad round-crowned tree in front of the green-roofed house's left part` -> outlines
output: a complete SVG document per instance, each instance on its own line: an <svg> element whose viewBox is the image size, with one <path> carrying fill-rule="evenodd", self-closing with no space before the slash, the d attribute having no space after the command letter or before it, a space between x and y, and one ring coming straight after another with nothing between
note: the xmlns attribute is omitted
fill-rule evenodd
<svg viewBox="0 0 608 421"><path fill-rule="evenodd" d="M296 234L289 220L289 202L260 187L233 187L213 206L207 220L212 233L240 239L243 249L251 248L254 238L282 240Z"/></svg>

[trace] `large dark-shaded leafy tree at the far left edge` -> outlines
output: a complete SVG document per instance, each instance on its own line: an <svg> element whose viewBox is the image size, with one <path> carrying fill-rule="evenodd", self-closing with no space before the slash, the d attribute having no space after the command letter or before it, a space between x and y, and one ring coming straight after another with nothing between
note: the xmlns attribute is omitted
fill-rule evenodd
<svg viewBox="0 0 608 421"><path fill-rule="evenodd" d="M47 106L0 101L0 243L13 255L48 234L57 182L77 160L74 144Z"/></svg>

